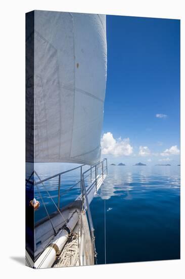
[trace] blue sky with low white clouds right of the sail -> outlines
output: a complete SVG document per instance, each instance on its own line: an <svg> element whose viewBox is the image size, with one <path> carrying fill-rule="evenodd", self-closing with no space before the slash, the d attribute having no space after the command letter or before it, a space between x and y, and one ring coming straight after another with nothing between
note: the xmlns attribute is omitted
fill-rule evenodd
<svg viewBox="0 0 185 279"><path fill-rule="evenodd" d="M180 21L107 16L107 48L103 157L179 163Z"/></svg>

